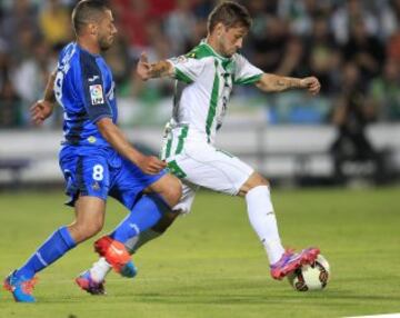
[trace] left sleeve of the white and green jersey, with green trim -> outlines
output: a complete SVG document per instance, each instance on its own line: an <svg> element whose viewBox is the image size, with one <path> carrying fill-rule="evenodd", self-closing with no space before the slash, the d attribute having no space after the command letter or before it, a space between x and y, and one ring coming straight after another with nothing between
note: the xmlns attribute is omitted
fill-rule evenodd
<svg viewBox="0 0 400 318"><path fill-rule="evenodd" d="M186 83L192 83L204 69L204 59L198 60L186 56L168 60L173 67L173 77Z"/></svg>

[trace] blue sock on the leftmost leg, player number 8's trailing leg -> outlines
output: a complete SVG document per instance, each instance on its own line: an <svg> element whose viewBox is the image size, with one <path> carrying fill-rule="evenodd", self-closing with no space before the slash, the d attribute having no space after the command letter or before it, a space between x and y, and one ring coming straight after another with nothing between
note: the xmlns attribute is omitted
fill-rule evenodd
<svg viewBox="0 0 400 318"><path fill-rule="evenodd" d="M67 227L59 228L43 242L30 259L17 270L16 276L23 276L24 279L32 278L36 272L54 262L68 250L74 248L76 245Z"/></svg>

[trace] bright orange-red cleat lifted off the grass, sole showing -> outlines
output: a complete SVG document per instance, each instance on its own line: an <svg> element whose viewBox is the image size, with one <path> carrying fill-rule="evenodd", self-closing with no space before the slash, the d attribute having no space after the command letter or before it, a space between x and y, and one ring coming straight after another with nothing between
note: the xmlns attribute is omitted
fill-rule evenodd
<svg viewBox="0 0 400 318"><path fill-rule="evenodd" d="M132 259L123 244L109 236L104 236L94 242L94 250L111 265L114 271L123 277L134 277L138 272Z"/></svg>

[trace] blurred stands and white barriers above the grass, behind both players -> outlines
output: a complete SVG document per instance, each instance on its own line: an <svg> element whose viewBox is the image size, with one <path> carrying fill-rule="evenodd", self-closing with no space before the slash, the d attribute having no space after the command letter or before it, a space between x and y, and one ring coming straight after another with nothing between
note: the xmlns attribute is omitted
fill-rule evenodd
<svg viewBox="0 0 400 318"><path fill-rule="evenodd" d="M42 97L60 48L71 39L72 0L0 1L0 185L61 185L62 111L38 129L29 107ZM143 85L141 51L179 56L204 36L212 0L112 0L119 38L106 53L133 143L157 151L172 81ZM319 97L237 87L218 145L274 185L386 185L400 176L400 1L248 0L243 54L267 72L317 76Z"/></svg>

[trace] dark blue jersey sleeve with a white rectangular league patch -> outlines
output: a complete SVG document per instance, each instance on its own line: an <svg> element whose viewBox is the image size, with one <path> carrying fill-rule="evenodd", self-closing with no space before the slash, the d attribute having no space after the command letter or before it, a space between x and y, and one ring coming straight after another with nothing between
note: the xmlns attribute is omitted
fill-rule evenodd
<svg viewBox="0 0 400 318"><path fill-rule="evenodd" d="M84 108L89 119L96 123L104 117L112 118L111 107L108 105L101 70L96 58L82 52L80 56L80 83L78 91L81 92Z"/></svg>

